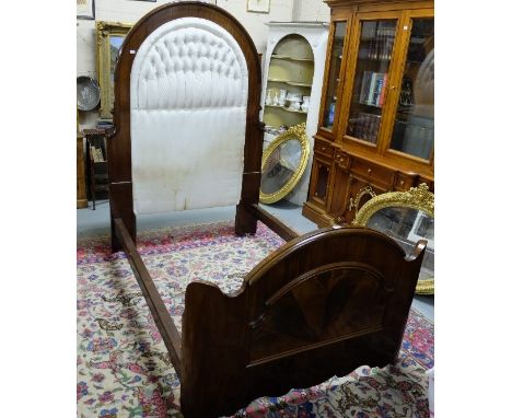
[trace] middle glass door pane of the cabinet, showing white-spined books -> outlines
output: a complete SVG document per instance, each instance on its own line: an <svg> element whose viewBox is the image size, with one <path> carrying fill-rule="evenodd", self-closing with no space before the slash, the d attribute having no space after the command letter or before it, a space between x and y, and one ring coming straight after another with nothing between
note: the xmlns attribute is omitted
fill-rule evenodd
<svg viewBox="0 0 512 418"><path fill-rule="evenodd" d="M376 143L397 20L368 20L360 24L347 135Z"/></svg>

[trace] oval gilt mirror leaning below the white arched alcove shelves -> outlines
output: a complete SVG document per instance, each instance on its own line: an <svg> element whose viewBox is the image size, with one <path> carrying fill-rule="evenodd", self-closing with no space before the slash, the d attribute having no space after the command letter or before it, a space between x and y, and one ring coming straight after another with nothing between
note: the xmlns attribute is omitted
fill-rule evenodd
<svg viewBox="0 0 512 418"><path fill-rule="evenodd" d="M309 156L305 124L279 135L263 153L259 201L274 204L287 196L304 174Z"/></svg>

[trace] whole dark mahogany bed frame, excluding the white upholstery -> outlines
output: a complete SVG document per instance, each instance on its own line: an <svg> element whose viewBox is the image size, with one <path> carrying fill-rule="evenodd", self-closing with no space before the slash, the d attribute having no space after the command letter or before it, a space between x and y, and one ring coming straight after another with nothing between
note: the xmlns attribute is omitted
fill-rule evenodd
<svg viewBox="0 0 512 418"><path fill-rule="evenodd" d="M188 285L179 335L136 247L130 148L133 55L156 27L195 16L224 27L248 68L244 172L235 233L263 221L288 241L245 278L236 294L210 282ZM260 63L244 27L224 10L167 3L127 35L115 72L115 133L108 143L112 247L123 249L181 380L182 413L217 417L264 395L309 387L361 364L384 367L400 348L426 242L406 256L391 237L364 228L323 229L303 236L258 206L263 124Z"/></svg>

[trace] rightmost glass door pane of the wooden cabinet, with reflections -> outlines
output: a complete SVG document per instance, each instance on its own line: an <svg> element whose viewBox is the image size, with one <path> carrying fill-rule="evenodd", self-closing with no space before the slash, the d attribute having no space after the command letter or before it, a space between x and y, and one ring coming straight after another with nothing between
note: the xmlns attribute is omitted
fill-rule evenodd
<svg viewBox="0 0 512 418"><path fill-rule="evenodd" d="M430 160L434 132L434 20L412 19L391 149Z"/></svg>

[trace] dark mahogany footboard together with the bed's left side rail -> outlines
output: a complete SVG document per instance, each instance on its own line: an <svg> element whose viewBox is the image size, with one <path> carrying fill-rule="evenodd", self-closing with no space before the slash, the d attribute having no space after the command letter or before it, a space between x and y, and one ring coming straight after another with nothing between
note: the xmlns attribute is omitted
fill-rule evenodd
<svg viewBox="0 0 512 418"><path fill-rule="evenodd" d="M406 257L391 237L354 227L295 237L236 294L189 283L179 336L126 227L114 224L181 380L185 417L230 415L259 396L393 362L426 248L420 241Z"/></svg>

